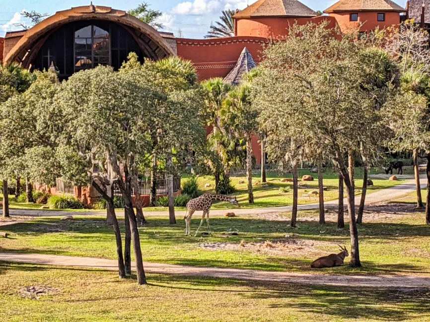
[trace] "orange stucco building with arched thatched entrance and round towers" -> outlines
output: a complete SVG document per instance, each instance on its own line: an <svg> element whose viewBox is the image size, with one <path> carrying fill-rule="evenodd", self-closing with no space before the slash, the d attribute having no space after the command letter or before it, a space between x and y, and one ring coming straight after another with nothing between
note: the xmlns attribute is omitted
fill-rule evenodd
<svg viewBox="0 0 430 322"><path fill-rule="evenodd" d="M390 0L340 0L324 11L328 15L318 15L298 0L258 0L236 10L234 36L185 39L159 32L123 10L91 4L59 11L29 30L7 32L0 38L0 59L41 70L54 65L64 79L97 64L118 68L132 51L141 60L178 55L191 60L203 80L241 69L236 65L245 48L258 64L263 45L287 35L293 23L326 20L345 32L368 32L398 24L404 11ZM253 150L260 162L257 138Z"/></svg>

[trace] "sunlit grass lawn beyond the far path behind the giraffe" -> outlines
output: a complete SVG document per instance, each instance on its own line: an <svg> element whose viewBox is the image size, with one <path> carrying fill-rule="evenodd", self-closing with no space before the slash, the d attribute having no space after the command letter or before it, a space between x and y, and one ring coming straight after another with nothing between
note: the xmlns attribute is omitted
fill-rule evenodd
<svg viewBox="0 0 430 322"><path fill-rule="evenodd" d="M372 168L370 170L370 174L381 173L380 168ZM362 169L356 168L356 194L361 193L361 187L363 184L362 181ZM303 181L300 182L301 187L299 187L299 204L317 202L316 197L308 198L301 197L303 194L307 194L312 190L318 190L318 179L317 174L310 173L309 170L300 169L299 170L299 178L304 175L311 175L314 177L314 181ZM292 183L290 182L281 182L283 178L292 178L291 174L286 174L280 176L275 172L267 173L267 183L263 185L255 185L257 182L260 182L260 177L253 178L253 192L254 192L254 204L248 203L248 193L247 193L247 184L246 177L232 177L231 181L234 185L236 191L232 194L237 197L241 207L244 208L261 208L261 207L278 207L292 204ZM182 182L188 180L186 177L182 178ZM244 183L239 184L239 181L243 181ZM381 189L389 188L395 185L400 184L402 181L389 181L386 179L372 179L373 186L367 188L367 193L372 193ZM328 191L324 192L325 200L333 200L338 197L338 174L333 173L330 169L327 169L327 172L324 173L324 186L328 188ZM200 176L198 178L199 190L202 193L215 193L215 180L213 176ZM210 187L205 187L206 184L210 184ZM285 192L283 189L287 189ZM0 201L2 200L2 196L0 196ZM10 200L10 208L11 209L40 209L42 204L35 203L26 203L26 202L16 202L16 199L13 195L9 196ZM228 202L214 202L213 209L230 209L231 204ZM145 207L144 211L159 211L166 210L166 207ZM184 210L185 207L177 207L178 210ZM86 211L94 211L100 212L100 210L96 209L67 209L67 211L72 212L86 212ZM118 211L122 211L118 210ZM103 212L103 211L102 211Z"/></svg>

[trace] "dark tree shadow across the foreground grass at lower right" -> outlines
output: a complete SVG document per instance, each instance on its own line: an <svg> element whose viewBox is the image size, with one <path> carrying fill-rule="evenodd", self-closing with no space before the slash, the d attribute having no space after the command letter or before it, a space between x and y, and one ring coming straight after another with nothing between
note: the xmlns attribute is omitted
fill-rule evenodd
<svg viewBox="0 0 430 322"><path fill-rule="evenodd" d="M177 286L183 282L189 288ZM270 308L291 308L337 319L371 321L409 321L417 315L429 316L430 289L379 289L368 287L333 287L236 281L192 276L156 275L150 278L156 287L210 292L237 293L252 300L265 300ZM162 283L162 284L159 284ZM245 289L243 289L245 288ZM269 301L269 304L267 304Z"/></svg>

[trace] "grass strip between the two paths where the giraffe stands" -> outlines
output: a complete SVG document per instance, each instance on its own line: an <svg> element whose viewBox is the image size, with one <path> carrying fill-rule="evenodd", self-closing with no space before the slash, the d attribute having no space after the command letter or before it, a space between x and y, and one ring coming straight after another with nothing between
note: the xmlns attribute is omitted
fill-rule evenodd
<svg viewBox="0 0 430 322"><path fill-rule="evenodd" d="M430 274L430 231L424 225L424 215L400 215L397 207L387 211L380 214L381 218L371 220L364 213L364 223L358 227L362 268L345 265L318 272ZM177 218L176 225L169 225L166 218L149 217L148 224L140 228L143 259L195 266L315 272L309 267L313 259L337 252L336 244L350 244L348 225L345 229L338 229L334 221L319 225L315 221L316 211L303 211L299 212L297 227L291 228L289 216L280 214L278 220L213 217L214 234L196 238L185 236L182 218ZM335 220L333 211L327 216ZM192 233L199 222L200 215L194 216ZM71 222L55 217L37 218L1 230L10 234L10 238L0 240L2 252L116 258L113 231L102 217L75 216ZM202 231L207 231L206 226ZM271 243L286 246L273 249Z"/></svg>

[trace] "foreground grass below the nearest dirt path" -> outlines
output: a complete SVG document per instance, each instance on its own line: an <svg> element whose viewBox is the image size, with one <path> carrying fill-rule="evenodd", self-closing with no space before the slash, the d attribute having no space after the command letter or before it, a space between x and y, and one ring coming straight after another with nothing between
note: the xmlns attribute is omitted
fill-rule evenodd
<svg viewBox="0 0 430 322"><path fill-rule="evenodd" d="M302 286L147 275L149 285L114 272L0 262L1 320L349 322L430 319L429 290ZM51 288L38 300L22 294Z"/></svg>

